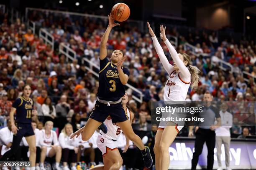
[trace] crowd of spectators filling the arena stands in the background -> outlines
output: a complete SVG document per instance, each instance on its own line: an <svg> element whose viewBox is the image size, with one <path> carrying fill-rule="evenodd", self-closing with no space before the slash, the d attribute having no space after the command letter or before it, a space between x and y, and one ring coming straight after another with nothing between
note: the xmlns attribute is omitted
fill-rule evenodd
<svg viewBox="0 0 256 170"><path fill-rule="evenodd" d="M99 85L97 77L86 70L86 64L82 62L82 58L87 58L94 64L100 65L99 47L106 28L105 22L86 17L75 20L68 15L45 16L37 13L29 15L29 19L34 21L37 27L46 28L54 36L54 49L52 49L51 45L46 44L42 38L38 37L38 33L33 34L32 30L28 29L19 18L14 23L9 22L8 15L3 15L0 19L0 125L8 124L12 102L21 95L22 86L29 84L33 90L31 98L34 108L38 112L38 117L34 121L39 130L44 128L46 131L44 125L49 121L53 122L58 138L64 138L61 133L67 136L71 131L78 130L84 125L94 108ZM188 53L192 58L192 65L201 70L199 87L197 91L189 90L187 101L202 100L202 96L207 90L212 93L216 101L239 101L240 104L255 101L256 84L253 78L241 75L241 72L245 70L256 76L256 44L253 41L234 42L231 37L220 41L215 32L210 35L206 32L179 35L178 30L172 28L168 28L166 34L167 37L170 35L178 37L177 52ZM184 50L186 42L196 46L196 54ZM60 43L68 45L76 52L77 56L74 60L67 62L66 56L59 52ZM162 42L161 45L172 64L173 61L167 47ZM151 126L150 103L163 100L163 87L168 75L154 50L151 37L148 32L141 32L136 27L121 25L110 33L107 48L108 56L115 49L122 50L123 54L128 55L128 59L124 63L124 66L128 67L130 71L128 84L143 92L144 95L143 102L139 103L132 98L132 95L138 96L138 93L127 89L128 105L135 113L133 129L145 131L143 136L152 138L146 134L151 130L155 134L156 131L155 126ZM207 53L209 56L204 57L200 55L201 53ZM218 67L220 59L233 65L232 73ZM212 61L215 62L214 65ZM98 71L96 67L90 67L92 70ZM248 78L248 81L245 81L245 78ZM238 108L228 111L235 114L243 107L244 105L241 104ZM246 110L248 114L244 116L254 116L254 102L247 108L251 108L251 110ZM239 118L233 120L236 122L236 125L231 128L233 134L242 134L243 128L239 125L239 121ZM67 125L72 129L71 131L67 132ZM255 126L249 126L246 130L248 130L248 134L255 134ZM184 128L179 135L187 136L187 128ZM61 146L62 153L68 152L64 150L61 143L58 141L56 143ZM151 140L145 143L152 145ZM102 161L99 160L101 153L96 149L95 143L91 142L88 145L89 149L85 149L82 155L90 155L89 162L99 163ZM82 146L74 144L72 147L74 152L71 154L79 155L80 149L77 152L77 148ZM86 147L83 146L83 148ZM132 143L131 150L136 152ZM41 151L40 161L44 162L43 157L47 156L46 152L47 148ZM95 157L95 154L100 155L100 158L99 156ZM58 156L57 158L56 154L56 163L61 158L61 155ZM77 159L82 160L80 157L81 154ZM96 158L98 160L95 160ZM63 159L64 163L67 163L67 158ZM70 161L74 163L77 160ZM136 158L131 163L135 165Z"/></svg>

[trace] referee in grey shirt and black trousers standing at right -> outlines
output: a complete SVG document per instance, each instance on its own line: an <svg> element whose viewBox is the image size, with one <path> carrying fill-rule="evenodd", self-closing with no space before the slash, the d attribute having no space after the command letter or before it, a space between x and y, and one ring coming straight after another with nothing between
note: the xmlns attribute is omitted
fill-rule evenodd
<svg viewBox="0 0 256 170"><path fill-rule="evenodd" d="M210 92L205 92L204 101L207 102L207 107L204 108L204 122L195 127L195 152L192 158L192 168L195 170L197 168L199 155L202 153L203 145L206 142L208 155L207 155L207 170L212 170L213 168L213 155L215 148L215 129L221 125L220 111L217 107L211 105L212 95ZM214 125L215 120L217 124ZM194 126L189 126L189 137L193 135Z"/></svg>

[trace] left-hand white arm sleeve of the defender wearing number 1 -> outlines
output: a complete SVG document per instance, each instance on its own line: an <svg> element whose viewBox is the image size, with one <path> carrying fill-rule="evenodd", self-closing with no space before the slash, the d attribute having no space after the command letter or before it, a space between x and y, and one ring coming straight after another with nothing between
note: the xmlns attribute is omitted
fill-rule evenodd
<svg viewBox="0 0 256 170"><path fill-rule="evenodd" d="M162 65L164 66L164 70L170 75L171 72L173 71L173 66L169 63L168 59L166 58L166 56L164 55L164 50L162 49L160 43L158 42L156 36L152 37L155 49L156 49L156 53L159 56L159 59L162 63Z"/></svg>

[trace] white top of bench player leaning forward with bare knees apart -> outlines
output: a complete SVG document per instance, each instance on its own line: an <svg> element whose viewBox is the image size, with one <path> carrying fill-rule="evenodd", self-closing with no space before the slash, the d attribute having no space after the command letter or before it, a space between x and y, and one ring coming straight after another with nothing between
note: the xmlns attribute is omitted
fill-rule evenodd
<svg viewBox="0 0 256 170"><path fill-rule="evenodd" d="M51 130L51 135L46 136L45 130L41 130L39 143L41 146L46 147L51 147L52 143L54 143L54 145L59 145L56 132Z"/></svg>

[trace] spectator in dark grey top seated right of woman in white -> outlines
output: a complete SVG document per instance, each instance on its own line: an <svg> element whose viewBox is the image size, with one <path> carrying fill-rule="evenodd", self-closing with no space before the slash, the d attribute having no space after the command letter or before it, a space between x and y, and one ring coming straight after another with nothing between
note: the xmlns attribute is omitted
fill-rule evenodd
<svg viewBox="0 0 256 170"><path fill-rule="evenodd" d="M62 95L60 102L56 105L57 117L67 117L70 105L67 103L67 96Z"/></svg>

